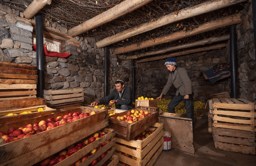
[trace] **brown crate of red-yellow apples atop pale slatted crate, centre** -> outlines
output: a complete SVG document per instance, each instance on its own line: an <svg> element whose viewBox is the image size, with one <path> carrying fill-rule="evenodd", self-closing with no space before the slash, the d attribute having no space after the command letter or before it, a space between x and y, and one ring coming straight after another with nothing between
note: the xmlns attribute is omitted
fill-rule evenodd
<svg viewBox="0 0 256 166"><path fill-rule="evenodd" d="M116 136L129 141L157 122L157 112L132 109L109 116L108 120L108 127L115 130Z"/></svg>

